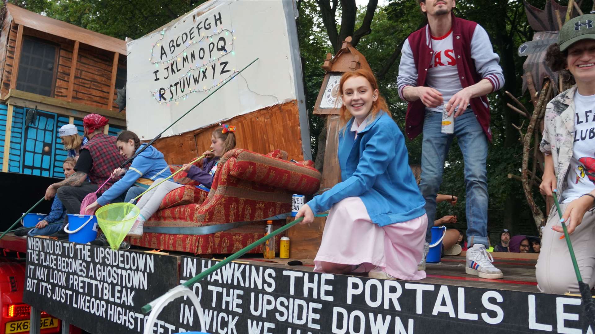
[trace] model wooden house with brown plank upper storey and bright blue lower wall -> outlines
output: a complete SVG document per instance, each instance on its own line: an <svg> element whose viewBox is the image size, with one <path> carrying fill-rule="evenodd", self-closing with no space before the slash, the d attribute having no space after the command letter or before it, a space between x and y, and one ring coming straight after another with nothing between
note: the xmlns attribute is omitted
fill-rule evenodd
<svg viewBox="0 0 595 334"><path fill-rule="evenodd" d="M83 133L90 113L126 128L116 87L126 85L126 42L7 4L0 23L0 171L64 177L64 124ZM49 149L45 149L49 147Z"/></svg>

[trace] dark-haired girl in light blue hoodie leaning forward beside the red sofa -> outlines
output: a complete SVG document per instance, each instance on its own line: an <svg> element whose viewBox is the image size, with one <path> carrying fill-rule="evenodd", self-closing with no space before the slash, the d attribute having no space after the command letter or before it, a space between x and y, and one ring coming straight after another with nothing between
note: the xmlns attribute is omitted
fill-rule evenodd
<svg viewBox="0 0 595 334"><path fill-rule="evenodd" d="M116 140L120 155L129 159L136 152L139 152L146 144L140 144L139 137L132 131L122 131ZM106 190L101 197L86 207L85 212L95 212L99 206L111 203L115 198L126 193L133 185L141 184L139 181L147 179L149 182L156 178L167 178L171 175L170 167L163 159L163 153L159 152L153 146L147 147L143 152L134 157L128 170L117 168L112 176L120 175L122 178ZM146 183L142 182L142 183Z"/></svg>

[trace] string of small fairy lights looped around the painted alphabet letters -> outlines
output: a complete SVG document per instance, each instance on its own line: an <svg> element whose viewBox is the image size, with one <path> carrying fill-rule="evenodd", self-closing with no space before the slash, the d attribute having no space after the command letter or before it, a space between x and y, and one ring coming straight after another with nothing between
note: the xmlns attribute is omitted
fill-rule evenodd
<svg viewBox="0 0 595 334"><path fill-rule="evenodd" d="M219 38L222 37L222 36L230 36L231 35L231 39L230 39L229 43L227 43L227 38L225 39L226 44L223 46L223 51L217 51L217 52L215 52L215 55L212 58L198 59L195 56L195 59L198 59L199 61L202 60L202 65L199 62L192 63L192 62L188 61L189 62L189 65L190 65L190 68L186 71L186 73L184 73L184 75L181 75L180 77L177 77L177 79L176 79L175 82L183 82L183 80L186 77L191 77L193 75L193 72L194 73L198 73L198 76L200 77L201 74L203 74L204 72L206 72L209 69L209 65L212 65L212 63L214 63L215 61L218 61L218 63L221 64L221 57L223 57L224 55L231 54L232 56L234 56L236 54L236 52L234 51L234 43L233 43L233 41L236 39L236 36L233 35L233 33L235 32L235 30L228 30L228 29L223 29L222 28L222 29L217 29L217 30L212 30L212 31L213 31L213 33L210 34L210 35L206 35L205 33L202 33L201 34L201 39L199 39L199 40L191 40L191 41L187 41L186 43L183 43L183 45L185 46L185 48L181 49L181 51L176 56L171 56L170 55L165 60L161 60L161 59L154 60L155 59L155 53L154 53L155 52L155 48L158 48L158 51L157 52L159 52L159 54L161 53L161 47L162 47L161 42L162 42L162 40L165 37L165 28L164 28L163 30L159 31L159 34L161 35L159 37L159 39L155 43L152 44L151 58L149 58L149 61L151 61L151 64L155 64L155 68L162 67L162 68L164 68L164 70L170 71L170 66L173 65L175 61L182 61L183 59L188 59L187 57L189 57L189 56L191 57L192 56L192 52L196 52L196 51L198 51L199 52L199 55L200 55L200 51L201 51L201 49L203 49L202 46L205 45L204 42L208 42L209 43L209 42L213 42L216 39L217 42L215 42L214 48L215 47L216 48L220 48L220 45L218 45ZM201 46L201 48L198 48L198 49L190 52L189 49L192 48L195 45ZM204 53L206 55L206 52L207 52L206 49L203 49L203 50L204 50ZM212 54L209 53L209 56L212 56ZM164 67L164 65L166 65L166 64L167 64L167 66ZM195 67L192 67L193 65ZM176 67L177 67L177 64L176 64ZM198 71L196 71L196 70L198 70ZM159 90L159 87L155 91L149 90L149 93L151 93L151 97L153 99L155 99L158 103L165 103L167 106L169 106L171 102L174 102L177 105L177 104L179 104L179 99L186 100L188 98L189 94L191 94L191 93L199 93L199 92L208 92L208 93L210 93L211 92L211 89L213 87L219 86L224 81L226 81L228 78L234 78L234 74L237 73L236 68L230 68L228 70L231 70L231 72L228 75L228 77L226 77L224 79L220 79L219 82L217 82L216 80L214 80L212 82L212 85L210 85L210 86L202 86L202 89L201 88L199 88L199 89L196 89L196 88L189 89L189 87L186 87L186 89L189 89L189 91L186 94L183 94L183 95L178 96L176 98L174 98L175 96L172 96L168 100L166 99L165 102L164 102L164 99L163 98L162 99L159 99L159 97L161 96L161 92ZM179 71L177 73L180 73L180 72L182 72L182 71ZM171 73L171 71L170 71L170 73ZM204 74L203 74L203 76L204 76ZM172 77L168 77L167 80L172 80L172 79L173 79ZM170 82L174 82L174 81L170 81ZM181 84L180 84L180 86L181 86ZM165 89L165 92L168 92L168 90L170 90L170 87L169 86L168 87L163 87L163 89ZM173 93L172 93L172 95L173 95Z"/></svg>

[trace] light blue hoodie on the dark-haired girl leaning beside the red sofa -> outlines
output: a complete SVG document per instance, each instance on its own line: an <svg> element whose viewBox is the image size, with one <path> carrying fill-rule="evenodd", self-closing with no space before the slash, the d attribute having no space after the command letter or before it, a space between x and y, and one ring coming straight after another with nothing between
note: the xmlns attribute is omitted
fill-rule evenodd
<svg viewBox="0 0 595 334"><path fill-rule="evenodd" d="M136 152L139 152L145 145L140 145ZM116 197L132 187L134 182L141 177L154 180L157 178L167 178L170 175L170 166L163 159L163 153L159 152L155 147L149 146L132 160L132 165L130 165L124 177L109 187L101 197L97 198L97 203L101 206L111 203Z"/></svg>

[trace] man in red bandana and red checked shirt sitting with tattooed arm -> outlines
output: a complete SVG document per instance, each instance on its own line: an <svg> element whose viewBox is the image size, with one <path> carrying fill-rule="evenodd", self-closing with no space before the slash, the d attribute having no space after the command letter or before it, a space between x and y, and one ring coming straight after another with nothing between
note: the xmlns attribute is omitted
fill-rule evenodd
<svg viewBox="0 0 595 334"><path fill-rule="evenodd" d="M83 198L98 190L99 185L104 184L114 169L125 161L115 145L116 138L104 134L104 127L108 121L107 118L98 114L84 116L84 135L89 138L89 141L80 149L79 159L74 166L74 174L64 181L49 185L45 192L46 200L58 196L68 214L79 213ZM87 176L90 182L85 181ZM109 189L115 181L114 178L110 179L104 187L99 189L98 195ZM123 199L124 196L119 201Z"/></svg>

